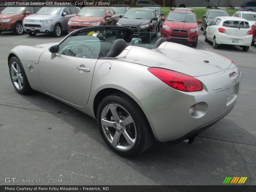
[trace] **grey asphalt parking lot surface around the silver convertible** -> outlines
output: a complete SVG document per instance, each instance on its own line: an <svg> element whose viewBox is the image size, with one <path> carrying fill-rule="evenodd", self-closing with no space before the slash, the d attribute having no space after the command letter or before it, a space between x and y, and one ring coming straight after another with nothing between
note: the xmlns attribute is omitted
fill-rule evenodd
<svg viewBox="0 0 256 192"><path fill-rule="evenodd" d="M191 145L156 142L127 159L106 146L91 117L44 94L14 90L8 52L63 37L0 35L0 185L13 184L6 177L62 179L63 185L221 185L230 176L256 184L256 45L248 52L234 46L214 50L201 31L196 49L227 56L242 71L235 108Z"/></svg>

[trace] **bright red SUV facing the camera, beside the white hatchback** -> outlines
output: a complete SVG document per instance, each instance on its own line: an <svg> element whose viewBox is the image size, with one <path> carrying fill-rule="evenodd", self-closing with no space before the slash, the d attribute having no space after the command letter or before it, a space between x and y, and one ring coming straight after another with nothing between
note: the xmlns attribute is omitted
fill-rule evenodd
<svg viewBox="0 0 256 192"><path fill-rule="evenodd" d="M167 41L185 41L191 43L192 47L197 46L199 28L194 12L171 11L166 19L162 17L161 20L164 20L161 36ZM202 23L202 20L198 20L198 23Z"/></svg>

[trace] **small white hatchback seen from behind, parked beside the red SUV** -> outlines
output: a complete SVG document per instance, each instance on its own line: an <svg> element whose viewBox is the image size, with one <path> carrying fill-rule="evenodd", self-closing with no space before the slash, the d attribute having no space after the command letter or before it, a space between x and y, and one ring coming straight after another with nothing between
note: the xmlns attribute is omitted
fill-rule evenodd
<svg viewBox="0 0 256 192"><path fill-rule="evenodd" d="M220 44L239 45L248 51L252 43L252 30L247 20L237 17L216 17L206 28L205 42L213 48Z"/></svg>

